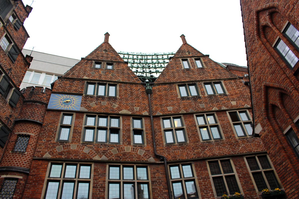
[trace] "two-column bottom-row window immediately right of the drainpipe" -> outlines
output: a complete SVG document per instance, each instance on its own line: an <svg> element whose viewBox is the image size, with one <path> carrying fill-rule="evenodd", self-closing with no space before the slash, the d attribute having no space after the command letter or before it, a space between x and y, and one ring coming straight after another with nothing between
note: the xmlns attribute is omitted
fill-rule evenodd
<svg viewBox="0 0 299 199"><path fill-rule="evenodd" d="M192 164L170 165L170 182L175 199L198 198Z"/></svg>

